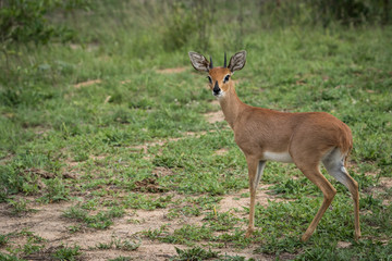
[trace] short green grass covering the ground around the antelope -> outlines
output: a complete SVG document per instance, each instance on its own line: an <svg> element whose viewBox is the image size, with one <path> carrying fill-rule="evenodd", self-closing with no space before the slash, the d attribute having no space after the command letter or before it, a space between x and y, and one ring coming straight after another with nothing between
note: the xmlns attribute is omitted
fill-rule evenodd
<svg viewBox="0 0 392 261"><path fill-rule="evenodd" d="M271 185L271 197L290 200L257 206L255 237L244 239L247 219L220 211L219 202L247 188L246 162L228 125L205 120L204 113L218 108L207 80L187 60L188 50L199 50L197 38L189 36L184 46L168 51L167 39L167 47L160 45L168 10L156 15L137 5L140 13L128 15L135 3L106 4L87 16L75 13L77 24L64 21L79 32L75 47L16 46L8 63L0 64L0 201L15 215L32 214L32 202L69 201L73 207L63 216L69 233L77 235L85 227L110 229L128 210L162 209L167 224L140 236L191 247L179 249L174 260L216 258L209 256L218 254L215 250L206 250L210 246L238 251L237 257L218 254L221 260L245 260L244 248L271 258L290 253L296 260L390 258L392 192L381 185L392 177L390 26L266 30L246 20L248 29L240 34L219 21L211 25L215 37L206 55L219 63L223 51L248 52L245 69L234 75L243 101L292 112L326 111L354 135L348 171L360 187L364 239L353 240L347 190L326 175L338 189L332 209L310 240L299 243L321 192L293 165L270 162L262 183ZM114 11L123 18L117 29L119 22L109 18ZM233 38L242 44L229 47ZM167 67L185 70L158 71ZM222 148L228 152L215 154ZM172 227L184 219L201 223ZM0 235L2 259L19 260L48 246L10 241L12 236ZM351 246L340 248L340 241ZM101 248L137 250L137 244ZM72 260L84 249L58 251L53 258Z"/></svg>

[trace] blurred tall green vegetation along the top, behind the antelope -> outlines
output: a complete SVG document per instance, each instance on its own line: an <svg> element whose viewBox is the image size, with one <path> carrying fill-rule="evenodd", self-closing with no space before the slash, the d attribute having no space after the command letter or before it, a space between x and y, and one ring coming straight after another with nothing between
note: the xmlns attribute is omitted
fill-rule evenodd
<svg viewBox="0 0 392 261"><path fill-rule="evenodd" d="M175 51L197 42L206 51L213 42L231 40L244 48L249 32L299 26L381 26L390 23L389 0L1 0L0 41L3 52L16 44L49 41L100 42L121 39L123 30L140 36L134 54ZM102 13L112 15L111 20ZM88 18L81 20L81 16ZM108 23L90 30L101 17ZM95 18L93 18L95 17ZM88 32L86 32L88 28ZM109 30L108 30L109 28ZM111 32L111 34L108 34ZM154 33L154 34L149 34ZM235 36L235 37L234 37ZM233 42L234 41L234 42ZM162 45L157 45L157 42ZM192 44L191 44L192 42ZM120 42L119 42L120 44ZM229 44L225 44L229 45ZM161 46L157 49L157 46ZM137 48L138 47L138 48Z"/></svg>

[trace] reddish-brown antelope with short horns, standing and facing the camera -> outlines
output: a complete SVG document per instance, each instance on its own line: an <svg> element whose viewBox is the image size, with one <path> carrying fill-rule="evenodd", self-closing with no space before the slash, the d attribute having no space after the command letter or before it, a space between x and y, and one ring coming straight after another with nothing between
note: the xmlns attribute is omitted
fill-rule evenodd
<svg viewBox="0 0 392 261"><path fill-rule="evenodd" d="M234 132L234 140L247 162L250 207L245 237L255 231L255 198L267 161L294 163L323 194L323 201L310 225L302 236L309 239L319 221L331 204L336 189L321 174L320 162L327 172L342 183L354 200L354 238L360 237L358 184L346 169L347 156L353 148L351 129L343 122L326 112L280 112L252 107L240 100L231 79L235 71L245 66L246 51L235 53L226 66L215 67L212 58L189 51L192 65L208 73L209 88L218 99L225 121Z"/></svg>

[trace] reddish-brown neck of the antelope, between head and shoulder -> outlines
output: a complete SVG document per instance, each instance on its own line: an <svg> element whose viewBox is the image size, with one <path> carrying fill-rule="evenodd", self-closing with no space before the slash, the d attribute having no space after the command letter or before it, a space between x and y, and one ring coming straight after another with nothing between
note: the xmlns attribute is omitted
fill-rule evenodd
<svg viewBox="0 0 392 261"><path fill-rule="evenodd" d="M233 84L231 84L228 92L219 99L219 103L222 108L225 121L229 123L230 127L234 129L236 119L245 109L246 104L237 97Z"/></svg>

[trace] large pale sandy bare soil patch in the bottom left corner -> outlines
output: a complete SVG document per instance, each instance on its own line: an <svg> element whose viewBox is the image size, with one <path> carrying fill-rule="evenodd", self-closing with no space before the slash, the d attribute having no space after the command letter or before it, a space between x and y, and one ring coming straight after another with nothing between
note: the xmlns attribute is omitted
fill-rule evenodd
<svg viewBox="0 0 392 261"><path fill-rule="evenodd" d="M156 229L169 222L166 217L168 210L128 211L125 216L117 219L114 224L108 229L86 229L71 234L69 227L76 224L63 217L62 214L72 204L71 202L61 202L35 206L37 212L17 217L7 214L8 211L5 209L8 206L2 203L0 204L0 234L5 235L28 231L33 232L36 236L45 238L47 240L45 249L28 256L28 260L42 260L46 257L50 257L50 252L53 252L53 249L62 245L71 247L74 245L79 246L83 252L82 260L108 260L120 256L133 257L135 260L168 260L176 254L174 247L182 247L143 238L140 247L135 251L124 251L115 248L98 249L97 246L99 244L110 244L113 238L135 241L138 238L140 240L142 235L139 233L142 231ZM137 222L130 222L135 219ZM180 224L177 227L180 227ZM11 241L7 247L15 248L26 244L26 238L14 236ZM5 252L5 249L0 248L0 251Z"/></svg>

